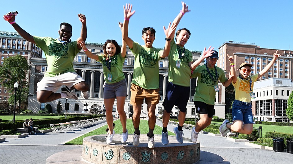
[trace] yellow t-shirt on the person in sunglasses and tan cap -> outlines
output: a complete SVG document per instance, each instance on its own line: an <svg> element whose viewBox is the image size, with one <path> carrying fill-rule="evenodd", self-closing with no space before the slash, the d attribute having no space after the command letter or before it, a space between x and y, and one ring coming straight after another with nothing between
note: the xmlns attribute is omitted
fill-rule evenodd
<svg viewBox="0 0 293 164"><path fill-rule="evenodd" d="M235 100L239 100L239 101L243 101L243 102L250 102L251 101L251 96L250 96L250 92L253 91L253 84L254 82L258 79L259 74L255 74L252 76L249 76L248 79L242 80L239 78L239 76L237 77L237 81L234 84L232 81L232 85L235 88ZM251 91L250 91L250 78L252 80L251 83Z"/></svg>

